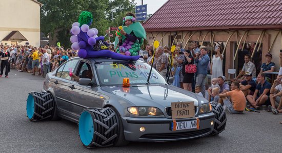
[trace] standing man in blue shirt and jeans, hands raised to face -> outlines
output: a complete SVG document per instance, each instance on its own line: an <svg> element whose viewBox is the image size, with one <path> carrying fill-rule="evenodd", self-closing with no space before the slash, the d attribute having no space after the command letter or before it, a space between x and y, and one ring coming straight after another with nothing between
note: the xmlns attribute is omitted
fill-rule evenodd
<svg viewBox="0 0 282 153"><path fill-rule="evenodd" d="M199 56L196 56L195 62L197 63L197 72L196 72L196 86L202 87L202 94L205 97L206 93L206 77L208 74L208 64L210 62L210 58L208 56L208 49L202 48L200 50L200 54L202 55L202 58Z"/></svg>

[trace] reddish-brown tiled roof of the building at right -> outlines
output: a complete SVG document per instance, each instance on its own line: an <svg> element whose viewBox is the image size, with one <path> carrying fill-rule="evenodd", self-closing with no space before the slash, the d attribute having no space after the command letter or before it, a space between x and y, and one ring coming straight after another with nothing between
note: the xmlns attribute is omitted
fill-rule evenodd
<svg viewBox="0 0 282 153"><path fill-rule="evenodd" d="M168 0L143 23L146 30L256 25L282 25L282 0Z"/></svg>

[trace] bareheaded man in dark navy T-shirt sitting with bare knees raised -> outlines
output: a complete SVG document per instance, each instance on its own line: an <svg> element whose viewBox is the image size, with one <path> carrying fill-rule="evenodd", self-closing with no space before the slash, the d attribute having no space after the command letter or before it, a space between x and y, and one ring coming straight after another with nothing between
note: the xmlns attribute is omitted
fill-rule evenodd
<svg viewBox="0 0 282 153"><path fill-rule="evenodd" d="M270 104L269 100L269 91L271 88L271 84L265 80L265 74L261 73L257 75L258 84L256 85L256 89L254 95L247 95L247 99L253 108L258 109L259 106L266 104Z"/></svg>

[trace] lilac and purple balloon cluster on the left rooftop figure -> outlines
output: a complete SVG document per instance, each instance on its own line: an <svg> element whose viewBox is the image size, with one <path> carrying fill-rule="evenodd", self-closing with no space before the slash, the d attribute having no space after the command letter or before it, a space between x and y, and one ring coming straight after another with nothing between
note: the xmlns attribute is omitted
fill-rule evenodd
<svg viewBox="0 0 282 153"><path fill-rule="evenodd" d="M88 39L87 42L85 42L84 40L79 40L78 41L78 37L77 35L80 32L84 32L87 34ZM78 22L74 22L72 24L72 29L71 29L71 34L72 36L70 37L70 41L72 43L71 48L73 50L79 50L79 52L86 52L85 48L87 46L87 44L93 46L96 43L96 39L98 36L98 30L96 28L89 28L89 25L87 24L83 24L81 26L81 28L79 28L79 23ZM78 54L79 54L78 52Z"/></svg>

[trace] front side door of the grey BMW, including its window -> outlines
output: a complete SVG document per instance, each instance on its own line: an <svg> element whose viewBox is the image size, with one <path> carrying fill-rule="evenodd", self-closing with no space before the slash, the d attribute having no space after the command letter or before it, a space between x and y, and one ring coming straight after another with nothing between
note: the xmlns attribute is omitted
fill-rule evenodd
<svg viewBox="0 0 282 153"><path fill-rule="evenodd" d="M95 83L93 67L91 66L89 61L82 60L79 63L79 66L76 71L76 75L79 78L84 78L82 75L83 71L89 70L92 72L92 82ZM90 79L90 78L89 78ZM71 86L73 86L72 95L70 101L72 101L73 106L70 107L70 111L75 113L79 117L79 113L81 113L85 108L100 108L104 103L103 96L100 96L96 91L97 87L95 85L92 86L82 86L79 85L78 82L72 80Z"/></svg>

